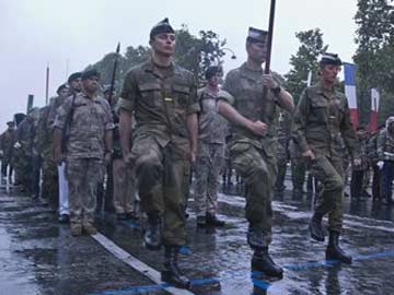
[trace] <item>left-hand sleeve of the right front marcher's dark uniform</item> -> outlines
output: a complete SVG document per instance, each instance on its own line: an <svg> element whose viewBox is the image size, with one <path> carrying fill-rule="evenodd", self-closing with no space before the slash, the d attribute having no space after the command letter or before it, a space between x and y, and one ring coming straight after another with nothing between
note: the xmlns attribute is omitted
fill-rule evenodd
<svg viewBox="0 0 394 295"><path fill-rule="evenodd" d="M304 90L304 92L301 94L300 102L296 107L296 113L291 125L291 137L300 146L301 152L306 152L310 150L305 137L306 118L310 114L309 104L308 90Z"/></svg>

